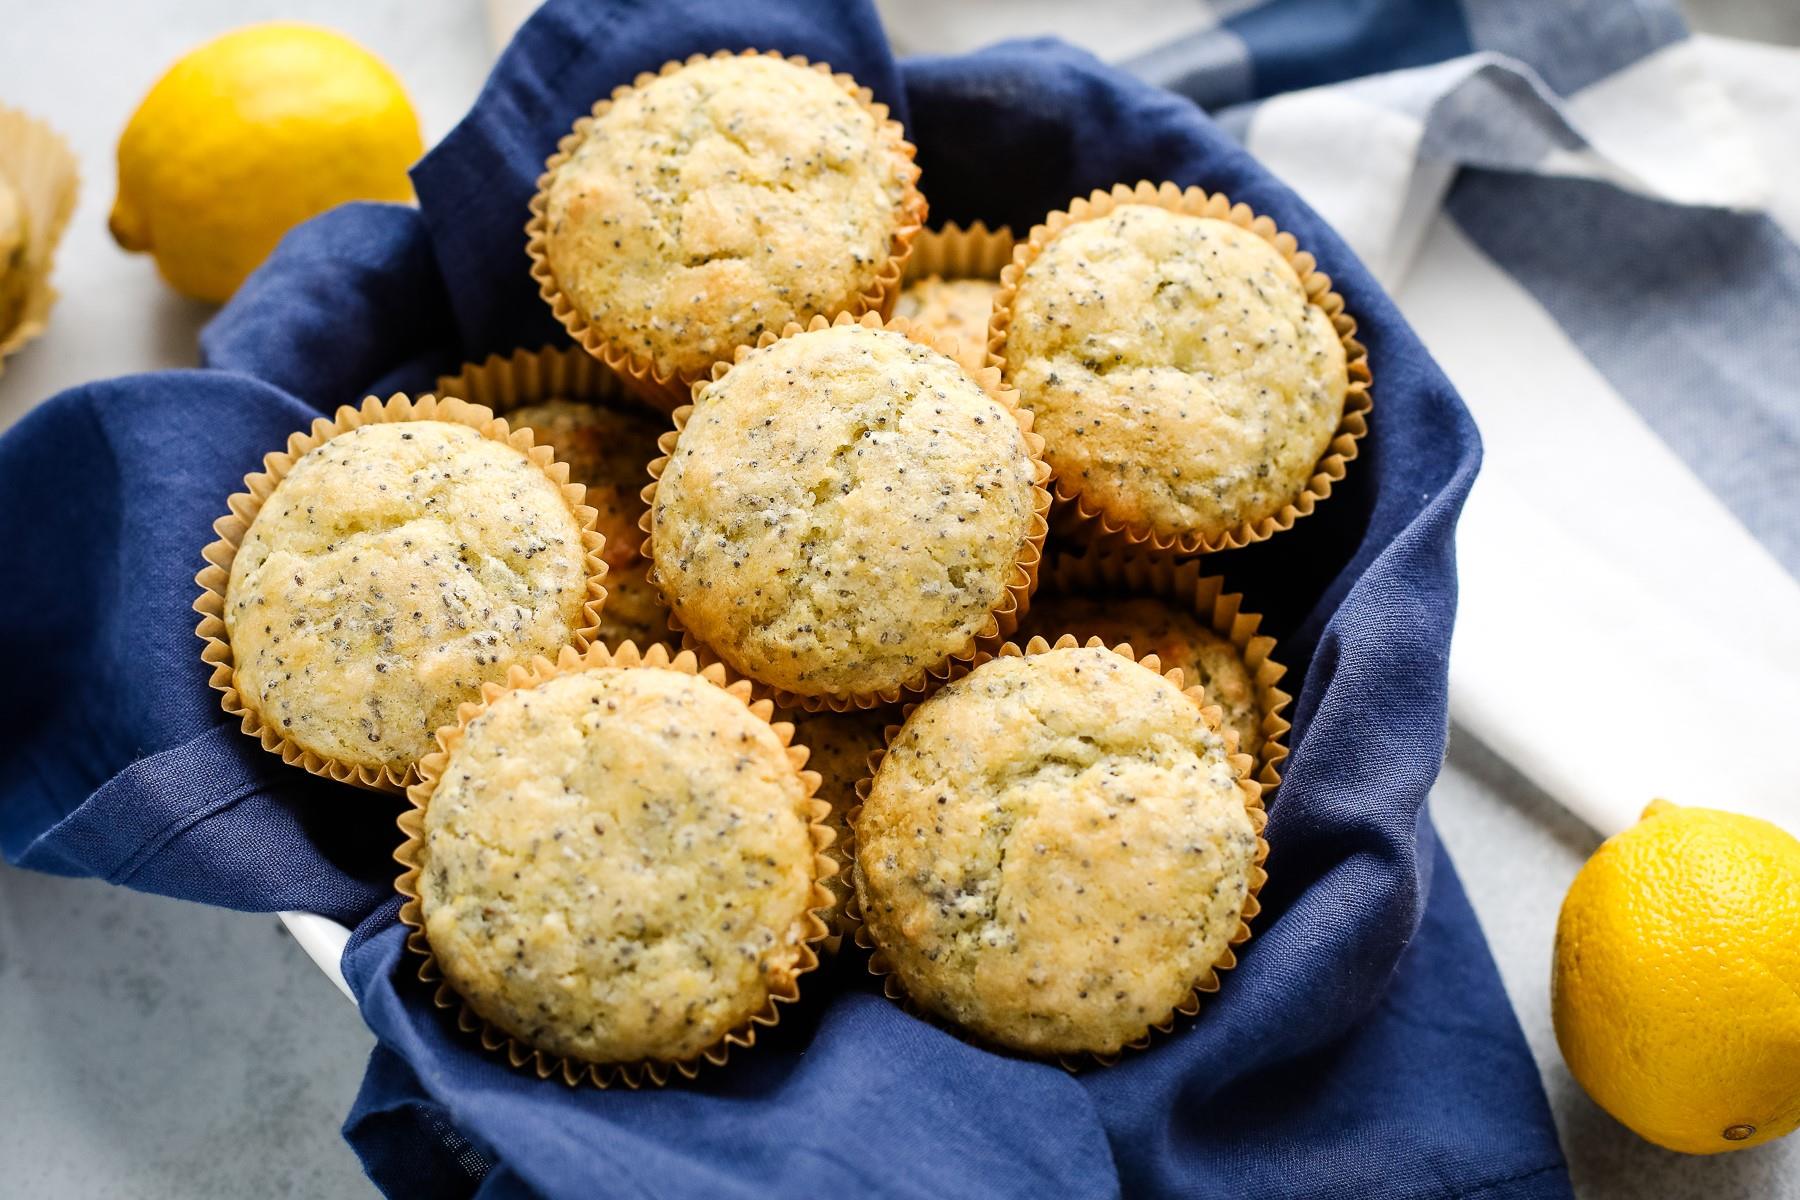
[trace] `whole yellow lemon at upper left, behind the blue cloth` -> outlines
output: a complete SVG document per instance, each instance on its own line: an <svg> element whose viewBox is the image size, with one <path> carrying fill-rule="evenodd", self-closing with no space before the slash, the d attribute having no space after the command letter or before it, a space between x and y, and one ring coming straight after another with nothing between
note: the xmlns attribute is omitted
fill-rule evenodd
<svg viewBox="0 0 1800 1200"><path fill-rule="evenodd" d="M223 302L281 236L346 200L409 200L423 151L400 79L311 25L250 25L169 68L119 139L112 234Z"/></svg>

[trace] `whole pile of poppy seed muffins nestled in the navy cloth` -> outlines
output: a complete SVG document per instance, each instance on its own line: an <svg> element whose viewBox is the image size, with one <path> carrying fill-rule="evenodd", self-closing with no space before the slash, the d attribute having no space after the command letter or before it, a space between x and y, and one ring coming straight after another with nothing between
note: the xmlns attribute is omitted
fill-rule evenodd
<svg viewBox="0 0 1800 1200"><path fill-rule="evenodd" d="M932 228L824 63L695 56L569 119L518 216L571 344L221 497L225 711L407 797L418 973L520 1070L729 1070L833 954L994 1052L1154 1054L1267 878L1291 698L1208 556L1355 457L1330 279L1174 184Z"/></svg>

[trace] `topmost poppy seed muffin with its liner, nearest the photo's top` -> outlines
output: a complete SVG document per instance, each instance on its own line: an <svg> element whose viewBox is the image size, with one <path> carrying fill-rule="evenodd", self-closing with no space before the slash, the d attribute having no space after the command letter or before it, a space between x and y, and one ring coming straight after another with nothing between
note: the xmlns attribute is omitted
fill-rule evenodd
<svg viewBox="0 0 1800 1200"><path fill-rule="evenodd" d="M893 311L925 219L913 155L850 76L697 54L558 144L526 227L531 272L576 342L675 407L765 331Z"/></svg>

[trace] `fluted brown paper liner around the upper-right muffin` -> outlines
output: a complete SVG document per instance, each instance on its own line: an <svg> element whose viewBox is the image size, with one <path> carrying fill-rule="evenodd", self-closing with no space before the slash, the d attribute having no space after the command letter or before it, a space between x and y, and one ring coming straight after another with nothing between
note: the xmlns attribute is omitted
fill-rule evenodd
<svg viewBox="0 0 1800 1200"><path fill-rule="evenodd" d="M1321 500L1332 495L1332 484L1343 482L1348 462L1357 455L1357 441L1368 434L1372 407L1368 394L1370 369L1368 351L1355 338L1355 318L1345 311L1343 297L1332 291L1330 275L1318 270L1314 257L1298 246L1292 234L1278 230L1271 218L1256 216L1247 205L1235 205L1217 193L1206 193L1199 187L1181 189L1175 184L1150 184L1148 180L1139 182L1136 187L1114 184L1111 189L1096 189L1089 196L1076 196L1069 201L1067 209L1051 212L1044 218L1042 225L1033 227L1031 236L1019 243L1012 263L1001 272L1001 291L994 297L994 315L988 324L988 360L1001 369L1001 374L1010 378L1006 369L1006 333L1012 327L1013 300L1024 272L1037 261L1044 246L1069 225L1103 218L1125 203L1156 205L1186 216L1231 221L1274 246L1287 259L1289 266L1294 268L1294 273L1300 275L1300 284L1305 288L1307 297L1332 318L1332 327L1337 329L1337 338L1345 347L1350 383L1345 390L1345 408L1337 421L1337 430L1332 434L1332 441L1318 464L1314 464L1310 479L1307 479L1298 497L1283 504L1271 516L1253 522L1246 520L1235 529L1215 536L1197 531L1170 536L1156 533L1148 525L1121 522L1091 504L1073 480L1055 479L1053 489L1058 516L1069 518L1069 533L1093 542L1127 543L1174 554L1229 551L1292 529L1296 520L1312 513Z"/></svg>

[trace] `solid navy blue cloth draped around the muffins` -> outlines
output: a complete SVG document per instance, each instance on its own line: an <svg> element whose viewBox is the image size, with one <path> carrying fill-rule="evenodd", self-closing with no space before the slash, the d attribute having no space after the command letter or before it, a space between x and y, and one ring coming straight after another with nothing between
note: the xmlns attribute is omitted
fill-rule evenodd
<svg viewBox="0 0 1800 1200"><path fill-rule="evenodd" d="M1213 567L1300 684L1271 880L1199 1020L1109 1070L977 1051L860 955L693 1085L567 1090L430 1004L391 896L398 802L284 768L207 689L191 578L263 452L365 390L558 338L526 200L572 117L670 58L776 47L848 70L920 144L934 219L1028 227L1170 178L1274 216L1357 315L1373 432L1318 515ZM356 923L380 1047L346 1135L392 1195L1566 1196L1550 1114L1424 801L1445 738L1451 533L1480 446L1339 239L1193 104L1060 43L896 65L866 4L553 0L416 169L419 209L292 234L207 327L207 371L65 392L0 441L0 849L25 865Z"/></svg>

